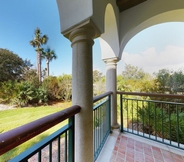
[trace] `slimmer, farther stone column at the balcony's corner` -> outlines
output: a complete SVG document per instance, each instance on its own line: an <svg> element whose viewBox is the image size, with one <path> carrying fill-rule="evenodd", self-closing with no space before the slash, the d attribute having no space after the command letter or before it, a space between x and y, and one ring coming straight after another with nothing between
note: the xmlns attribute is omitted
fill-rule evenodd
<svg viewBox="0 0 184 162"><path fill-rule="evenodd" d="M113 129L119 128L117 123L117 95L116 95L116 63L117 58L104 60L106 63L106 91L112 91L111 98L111 127Z"/></svg>

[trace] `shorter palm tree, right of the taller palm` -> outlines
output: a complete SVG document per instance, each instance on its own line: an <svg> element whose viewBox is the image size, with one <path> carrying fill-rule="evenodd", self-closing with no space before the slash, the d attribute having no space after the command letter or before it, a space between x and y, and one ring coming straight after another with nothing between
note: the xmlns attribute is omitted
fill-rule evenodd
<svg viewBox="0 0 184 162"><path fill-rule="evenodd" d="M57 56L56 56L54 50L51 50L50 47L47 47L47 49L42 52L42 58L45 58L46 59L47 76L49 76L49 63L53 59L57 59Z"/></svg>

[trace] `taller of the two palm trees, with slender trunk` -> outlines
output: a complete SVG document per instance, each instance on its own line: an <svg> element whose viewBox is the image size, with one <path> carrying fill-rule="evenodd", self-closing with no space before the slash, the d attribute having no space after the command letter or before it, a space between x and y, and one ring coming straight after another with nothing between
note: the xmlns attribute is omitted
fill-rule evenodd
<svg viewBox="0 0 184 162"><path fill-rule="evenodd" d="M41 45L46 44L48 37L47 35L43 35L40 31L40 29L37 27L34 31L35 37L33 40L30 41L30 44L36 48L37 52L37 74L39 82L41 82L41 53L43 52L43 48L41 48Z"/></svg>

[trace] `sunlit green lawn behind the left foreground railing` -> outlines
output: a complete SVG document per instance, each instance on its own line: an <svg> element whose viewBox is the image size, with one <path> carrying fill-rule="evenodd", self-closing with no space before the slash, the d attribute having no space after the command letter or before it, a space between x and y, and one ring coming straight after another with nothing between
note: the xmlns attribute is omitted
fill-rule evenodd
<svg viewBox="0 0 184 162"><path fill-rule="evenodd" d="M42 118L49 114L61 111L67 107L71 106L71 102L59 103L52 106L40 106L31 108L17 108L12 110L0 111L0 133L6 132L13 128L19 127L36 119ZM5 162L16 155L20 154L33 144L37 143L46 136L52 134L62 126L67 124L67 120L62 123L52 127L51 129L45 131L44 133L36 136L35 138L29 140L28 142L10 150L6 154L0 156L0 161Z"/></svg>

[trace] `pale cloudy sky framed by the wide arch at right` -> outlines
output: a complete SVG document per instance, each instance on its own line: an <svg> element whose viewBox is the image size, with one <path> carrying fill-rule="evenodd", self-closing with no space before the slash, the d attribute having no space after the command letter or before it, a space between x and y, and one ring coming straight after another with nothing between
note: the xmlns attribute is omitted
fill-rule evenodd
<svg viewBox="0 0 184 162"><path fill-rule="evenodd" d="M125 64L153 73L160 69L184 66L184 23L161 23L136 34L126 44L118 64L120 74Z"/></svg>

